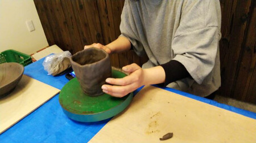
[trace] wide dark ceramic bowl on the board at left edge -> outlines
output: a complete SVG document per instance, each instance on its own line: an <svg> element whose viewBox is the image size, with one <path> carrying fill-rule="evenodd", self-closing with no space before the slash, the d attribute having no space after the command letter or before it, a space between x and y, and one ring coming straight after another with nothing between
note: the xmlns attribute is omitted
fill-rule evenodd
<svg viewBox="0 0 256 143"><path fill-rule="evenodd" d="M0 64L0 97L7 96L19 83L24 67L19 63Z"/></svg>

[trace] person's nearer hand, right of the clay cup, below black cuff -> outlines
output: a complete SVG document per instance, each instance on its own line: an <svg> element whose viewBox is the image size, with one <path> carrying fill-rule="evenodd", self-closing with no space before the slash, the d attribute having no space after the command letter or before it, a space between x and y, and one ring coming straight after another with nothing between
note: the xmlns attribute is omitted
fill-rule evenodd
<svg viewBox="0 0 256 143"><path fill-rule="evenodd" d="M114 97L124 97L144 84L144 71L137 64L130 64L123 67L122 70L130 74L121 79L106 79L106 83L112 85L102 85L103 92Z"/></svg>

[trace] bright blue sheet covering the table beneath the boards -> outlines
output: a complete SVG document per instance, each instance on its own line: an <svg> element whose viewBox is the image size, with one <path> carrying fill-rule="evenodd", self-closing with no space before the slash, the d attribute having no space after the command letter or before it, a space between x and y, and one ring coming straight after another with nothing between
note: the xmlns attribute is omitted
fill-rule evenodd
<svg viewBox="0 0 256 143"><path fill-rule="evenodd" d="M43 59L25 67L24 75L61 89L68 83L65 75L53 77L47 75L42 66ZM170 92L196 99L210 105L220 107L256 119L256 113L224 105L210 99L193 96L171 88L163 88ZM138 93L141 88L135 90ZM59 104L59 94L40 106L30 115L0 135L1 142L88 142L110 119L93 123L81 123L69 119ZM0 123L1 124L1 123Z"/></svg>

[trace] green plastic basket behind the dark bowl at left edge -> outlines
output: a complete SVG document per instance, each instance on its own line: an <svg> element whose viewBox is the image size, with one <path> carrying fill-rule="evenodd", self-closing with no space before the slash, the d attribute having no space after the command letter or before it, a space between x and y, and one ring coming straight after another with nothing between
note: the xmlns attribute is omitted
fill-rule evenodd
<svg viewBox="0 0 256 143"><path fill-rule="evenodd" d="M15 62L27 66L32 63L30 55L20 53L15 50L6 50L0 53L0 63Z"/></svg>

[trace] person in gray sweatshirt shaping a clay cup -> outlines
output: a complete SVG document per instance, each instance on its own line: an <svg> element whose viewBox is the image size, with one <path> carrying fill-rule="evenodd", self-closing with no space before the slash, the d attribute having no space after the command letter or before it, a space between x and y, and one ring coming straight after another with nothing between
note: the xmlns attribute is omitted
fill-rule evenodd
<svg viewBox="0 0 256 143"><path fill-rule="evenodd" d="M117 40L84 48L147 54L142 68L133 63L122 67L128 76L106 79L102 90L114 97L150 84L206 97L221 85L220 28L218 0L126 0Z"/></svg>

